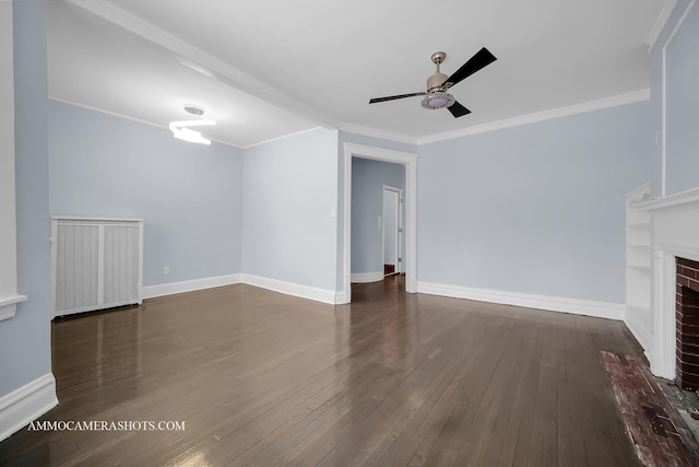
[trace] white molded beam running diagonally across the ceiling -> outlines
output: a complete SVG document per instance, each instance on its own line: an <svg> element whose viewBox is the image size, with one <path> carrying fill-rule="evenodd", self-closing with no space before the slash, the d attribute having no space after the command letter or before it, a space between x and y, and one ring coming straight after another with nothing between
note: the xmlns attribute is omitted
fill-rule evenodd
<svg viewBox="0 0 699 467"><path fill-rule="evenodd" d="M340 127L340 121L317 108L291 97L186 40L179 39L154 24L122 10L111 1L68 0L68 2L174 54L180 58L182 66L233 85L321 127L333 130Z"/></svg>

